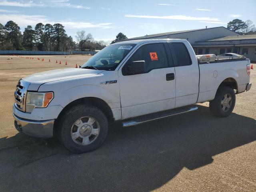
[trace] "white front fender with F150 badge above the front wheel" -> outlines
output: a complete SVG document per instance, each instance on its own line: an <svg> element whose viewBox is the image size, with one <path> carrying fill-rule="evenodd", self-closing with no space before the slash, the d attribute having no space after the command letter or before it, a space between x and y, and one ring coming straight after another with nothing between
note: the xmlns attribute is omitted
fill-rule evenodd
<svg viewBox="0 0 256 192"><path fill-rule="evenodd" d="M100 84L106 80L117 80L113 84ZM54 99L49 106L62 106L63 108L74 100L94 97L105 101L110 108L120 111L120 92L117 75L113 72L98 74L90 77L78 77L42 84L39 92L53 91Z"/></svg>

